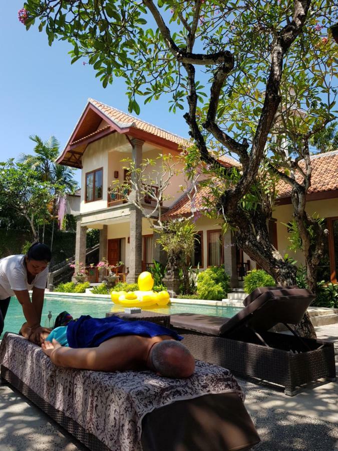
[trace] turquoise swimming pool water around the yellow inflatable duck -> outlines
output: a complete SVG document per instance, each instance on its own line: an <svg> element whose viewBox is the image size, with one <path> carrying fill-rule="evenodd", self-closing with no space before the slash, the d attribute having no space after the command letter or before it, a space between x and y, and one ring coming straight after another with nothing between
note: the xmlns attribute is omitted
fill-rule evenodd
<svg viewBox="0 0 338 451"><path fill-rule="evenodd" d="M1 301L0 301L1 302ZM81 315L91 315L96 318L106 316L107 312L118 312L123 310L123 306L114 305L109 300L92 300L92 299L78 299L69 296L67 300L56 295L53 299L45 298L44 308L42 311L41 325L45 326L45 321L48 321L48 313L52 312L52 320L55 320L59 313L67 310L73 318L79 318ZM174 314L174 313L200 313L202 315L232 317L240 309L236 307L218 307L207 305L192 305L192 304L170 304L164 307L146 307L143 310L151 310L152 312ZM23 310L16 297L11 298L10 306L5 318L4 332L18 333L22 324L25 322ZM48 327L48 324L46 324ZM2 335L0 336L0 339Z"/></svg>

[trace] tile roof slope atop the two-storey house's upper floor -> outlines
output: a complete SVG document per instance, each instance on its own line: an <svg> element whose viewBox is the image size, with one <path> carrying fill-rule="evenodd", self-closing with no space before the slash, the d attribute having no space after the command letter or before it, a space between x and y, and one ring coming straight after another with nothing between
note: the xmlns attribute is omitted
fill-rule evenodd
<svg viewBox="0 0 338 451"><path fill-rule="evenodd" d="M120 128L135 127L139 130L151 133L152 135L175 142L182 147L189 147L191 145L188 139L182 138L181 136L175 135L174 133L170 133L166 130L163 130L162 128L156 127L149 122L142 121L141 119L138 119L131 114L124 113L123 111L98 102L94 99L88 99L88 101L96 108L98 108L103 114L105 114L110 120L120 126Z"/></svg>

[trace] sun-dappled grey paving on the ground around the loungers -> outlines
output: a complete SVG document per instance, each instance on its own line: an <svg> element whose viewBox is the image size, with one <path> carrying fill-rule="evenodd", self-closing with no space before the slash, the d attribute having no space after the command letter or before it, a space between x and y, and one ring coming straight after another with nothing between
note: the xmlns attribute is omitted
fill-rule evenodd
<svg viewBox="0 0 338 451"><path fill-rule="evenodd" d="M316 327L316 332L318 338L334 341L338 373L338 324ZM254 451L338 451L337 382L317 383L289 397L282 390L238 380L262 440ZM19 392L0 385L0 451L86 449Z"/></svg>

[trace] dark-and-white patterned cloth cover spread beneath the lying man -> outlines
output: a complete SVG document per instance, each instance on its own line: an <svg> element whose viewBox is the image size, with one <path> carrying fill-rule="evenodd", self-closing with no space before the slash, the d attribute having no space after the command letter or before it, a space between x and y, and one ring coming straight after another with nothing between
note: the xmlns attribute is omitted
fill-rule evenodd
<svg viewBox="0 0 338 451"><path fill-rule="evenodd" d="M39 346L7 332L0 363L113 451L142 450L142 418L155 408L209 393L236 392L244 401L229 370L201 361L188 379L168 379L151 371L66 369L55 366Z"/></svg>

